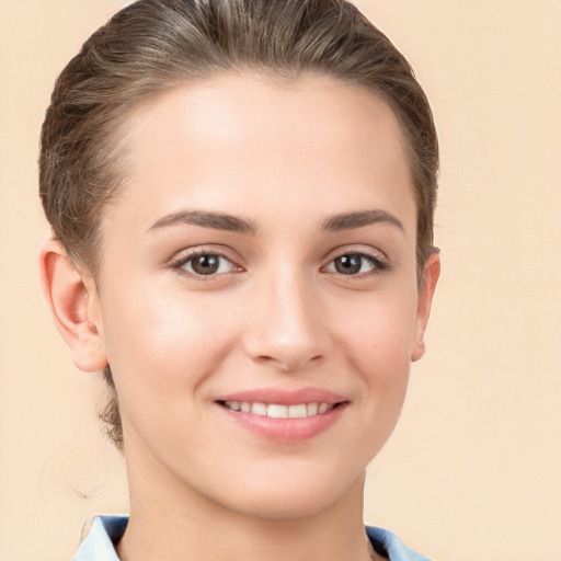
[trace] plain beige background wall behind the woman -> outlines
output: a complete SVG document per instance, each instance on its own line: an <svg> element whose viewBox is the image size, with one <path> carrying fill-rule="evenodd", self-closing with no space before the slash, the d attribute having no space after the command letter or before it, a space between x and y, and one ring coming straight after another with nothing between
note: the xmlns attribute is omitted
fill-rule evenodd
<svg viewBox="0 0 561 561"><path fill-rule="evenodd" d="M55 77L124 2L0 0L0 559L70 559L126 512L37 280L37 135ZM436 560L561 560L559 0L362 0L410 58L443 148L428 353L369 467L366 516Z"/></svg>

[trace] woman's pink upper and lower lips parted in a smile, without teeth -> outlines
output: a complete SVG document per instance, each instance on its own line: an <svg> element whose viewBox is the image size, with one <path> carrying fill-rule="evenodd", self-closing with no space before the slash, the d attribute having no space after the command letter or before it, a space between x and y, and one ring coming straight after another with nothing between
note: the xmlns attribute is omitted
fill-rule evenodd
<svg viewBox="0 0 561 561"><path fill-rule="evenodd" d="M299 403L324 402L337 404L325 413L300 419L272 419L265 415L255 415L242 411L232 411L220 403L224 401L249 401L265 404L278 403L283 405L296 405ZM227 419L260 438L266 440L296 444L318 436L341 419L348 400L331 391L318 388L302 388L298 390L285 390L280 388L256 388L248 391L239 391L220 396L215 403L227 415Z"/></svg>

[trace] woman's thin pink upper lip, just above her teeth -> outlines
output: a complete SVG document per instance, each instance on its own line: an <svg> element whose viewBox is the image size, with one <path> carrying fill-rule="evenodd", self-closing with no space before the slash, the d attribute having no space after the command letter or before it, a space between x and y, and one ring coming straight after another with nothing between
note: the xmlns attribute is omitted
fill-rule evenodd
<svg viewBox="0 0 561 561"><path fill-rule="evenodd" d="M341 403L346 398L332 391L319 388L300 388L287 390L283 388L254 388L220 396L216 401L241 401L251 403L276 403L279 405L297 405L299 403Z"/></svg>

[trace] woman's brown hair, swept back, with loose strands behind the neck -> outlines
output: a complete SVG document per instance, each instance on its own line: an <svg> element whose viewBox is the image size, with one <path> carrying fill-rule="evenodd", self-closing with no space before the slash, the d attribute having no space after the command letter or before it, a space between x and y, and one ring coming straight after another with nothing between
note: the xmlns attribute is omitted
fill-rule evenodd
<svg viewBox="0 0 561 561"><path fill-rule="evenodd" d="M41 137L39 192L54 237L95 275L99 219L126 178L118 131L138 105L193 80L243 69L314 72L381 96L405 138L417 206L417 271L433 249L438 142L405 58L345 0L139 0L98 30L59 76ZM123 432L108 367L100 416Z"/></svg>

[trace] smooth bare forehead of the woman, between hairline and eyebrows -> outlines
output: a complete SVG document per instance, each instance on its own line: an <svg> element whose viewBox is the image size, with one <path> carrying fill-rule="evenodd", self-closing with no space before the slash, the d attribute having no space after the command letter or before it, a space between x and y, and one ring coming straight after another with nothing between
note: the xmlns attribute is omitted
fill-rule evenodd
<svg viewBox="0 0 561 561"><path fill-rule="evenodd" d="M325 214L414 205L393 112L327 77L218 75L137 107L124 137L123 198L138 207L136 221L174 206L247 215L295 201Z"/></svg>

